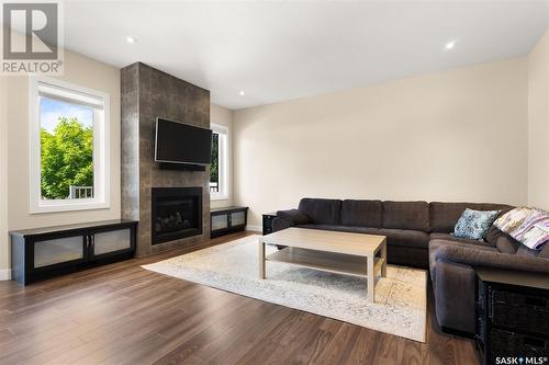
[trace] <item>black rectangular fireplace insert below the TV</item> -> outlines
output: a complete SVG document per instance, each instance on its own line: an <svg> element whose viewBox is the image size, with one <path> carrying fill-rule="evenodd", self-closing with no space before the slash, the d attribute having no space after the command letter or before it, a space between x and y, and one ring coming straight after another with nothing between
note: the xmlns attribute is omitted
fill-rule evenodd
<svg viewBox="0 0 549 365"><path fill-rule="evenodd" d="M202 187L153 187L152 241L202 235Z"/></svg>

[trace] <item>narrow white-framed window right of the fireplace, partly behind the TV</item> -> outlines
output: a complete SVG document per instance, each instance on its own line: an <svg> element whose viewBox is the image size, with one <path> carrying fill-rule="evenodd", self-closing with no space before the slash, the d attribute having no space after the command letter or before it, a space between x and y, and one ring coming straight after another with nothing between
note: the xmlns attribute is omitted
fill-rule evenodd
<svg viewBox="0 0 549 365"><path fill-rule="evenodd" d="M228 128L212 124L212 164L210 196L213 201L228 198Z"/></svg>

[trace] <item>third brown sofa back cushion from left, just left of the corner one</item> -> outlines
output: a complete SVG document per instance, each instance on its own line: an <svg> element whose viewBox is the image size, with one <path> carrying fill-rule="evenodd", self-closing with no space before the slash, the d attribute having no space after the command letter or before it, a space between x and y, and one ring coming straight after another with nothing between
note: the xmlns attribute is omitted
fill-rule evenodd
<svg viewBox="0 0 549 365"><path fill-rule="evenodd" d="M383 228L429 231L427 202L383 202Z"/></svg>

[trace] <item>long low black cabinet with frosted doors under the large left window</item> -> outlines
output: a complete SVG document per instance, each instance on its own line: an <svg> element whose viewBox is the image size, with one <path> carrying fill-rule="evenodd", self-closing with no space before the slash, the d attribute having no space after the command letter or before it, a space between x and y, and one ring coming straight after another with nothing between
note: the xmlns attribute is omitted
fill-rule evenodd
<svg viewBox="0 0 549 365"><path fill-rule="evenodd" d="M11 276L26 285L43 278L130 259L137 221L104 220L11 231Z"/></svg>

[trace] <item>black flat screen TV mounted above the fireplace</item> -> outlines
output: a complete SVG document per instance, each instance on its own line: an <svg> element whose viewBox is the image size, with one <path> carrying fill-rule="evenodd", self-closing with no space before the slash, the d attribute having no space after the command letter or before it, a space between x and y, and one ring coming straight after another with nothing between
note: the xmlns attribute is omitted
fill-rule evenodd
<svg viewBox="0 0 549 365"><path fill-rule="evenodd" d="M155 161L205 166L211 149L212 130L156 118Z"/></svg>

